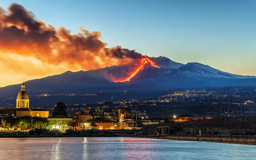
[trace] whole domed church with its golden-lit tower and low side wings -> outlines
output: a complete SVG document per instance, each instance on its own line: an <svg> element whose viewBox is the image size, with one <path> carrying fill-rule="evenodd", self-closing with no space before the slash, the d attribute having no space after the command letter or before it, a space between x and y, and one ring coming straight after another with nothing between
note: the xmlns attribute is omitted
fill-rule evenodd
<svg viewBox="0 0 256 160"><path fill-rule="evenodd" d="M16 117L48 117L49 111L44 109L30 109L28 93L25 84L21 84L21 90L16 99L16 108L0 108L0 116L16 116Z"/></svg>

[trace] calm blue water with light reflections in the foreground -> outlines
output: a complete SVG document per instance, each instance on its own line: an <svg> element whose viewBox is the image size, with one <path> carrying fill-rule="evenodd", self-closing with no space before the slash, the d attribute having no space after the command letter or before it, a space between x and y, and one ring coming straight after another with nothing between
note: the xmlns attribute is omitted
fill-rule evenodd
<svg viewBox="0 0 256 160"><path fill-rule="evenodd" d="M256 146L121 137L1 138L3 160L252 160Z"/></svg>

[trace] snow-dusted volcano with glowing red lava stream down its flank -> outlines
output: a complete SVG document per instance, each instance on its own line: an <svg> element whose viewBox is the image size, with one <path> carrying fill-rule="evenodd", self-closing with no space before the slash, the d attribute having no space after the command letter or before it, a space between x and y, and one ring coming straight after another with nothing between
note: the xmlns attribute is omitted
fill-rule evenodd
<svg viewBox="0 0 256 160"><path fill-rule="evenodd" d="M113 77L118 80L114 81ZM256 86L255 78L223 72L196 62L182 64L166 57L142 57L137 66L131 64L89 71L67 71L24 83L28 92L33 95ZM19 90L20 84L2 87L0 97L17 96Z"/></svg>

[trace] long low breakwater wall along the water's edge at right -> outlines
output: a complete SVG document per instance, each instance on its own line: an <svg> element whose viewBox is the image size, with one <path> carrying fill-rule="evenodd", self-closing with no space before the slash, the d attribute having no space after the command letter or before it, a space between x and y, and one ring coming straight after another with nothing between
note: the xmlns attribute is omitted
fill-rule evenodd
<svg viewBox="0 0 256 160"><path fill-rule="evenodd" d="M120 137L133 138L153 138L165 140L188 140L202 142L221 142L236 144L256 145L256 136L237 136L237 135L166 135L166 136L149 136L149 135L119 135Z"/></svg>

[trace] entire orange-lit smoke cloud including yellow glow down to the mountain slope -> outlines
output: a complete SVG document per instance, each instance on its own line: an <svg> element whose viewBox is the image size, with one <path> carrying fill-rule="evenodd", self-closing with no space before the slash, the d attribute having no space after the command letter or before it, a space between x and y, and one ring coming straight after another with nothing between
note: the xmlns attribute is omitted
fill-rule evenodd
<svg viewBox="0 0 256 160"><path fill-rule="evenodd" d="M106 48L99 31L80 27L72 35L36 20L20 4L0 7L0 87L64 71L129 64L141 54L120 46Z"/></svg>

